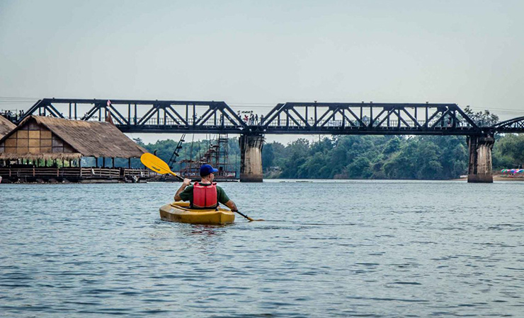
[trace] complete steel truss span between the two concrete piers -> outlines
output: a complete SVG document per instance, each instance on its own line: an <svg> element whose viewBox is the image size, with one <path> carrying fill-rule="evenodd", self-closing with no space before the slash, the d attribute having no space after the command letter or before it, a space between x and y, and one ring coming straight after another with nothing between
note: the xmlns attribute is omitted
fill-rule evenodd
<svg viewBox="0 0 524 318"><path fill-rule="evenodd" d="M265 134L457 134L482 129L456 104L286 102L261 122Z"/></svg>

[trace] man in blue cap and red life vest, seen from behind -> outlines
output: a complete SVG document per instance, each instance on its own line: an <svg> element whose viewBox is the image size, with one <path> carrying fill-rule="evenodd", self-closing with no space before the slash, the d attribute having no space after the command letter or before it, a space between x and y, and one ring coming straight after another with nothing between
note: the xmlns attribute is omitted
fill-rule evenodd
<svg viewBox="0 0 524 318"><path fill-rule="evenodd" d="M215 179L217 169L211 165L200 167L200 182L191 184L190 179L184 179L182 186L175 194L175 201L189 201L191 208L217 208L219 202L225 204L231 211L238 211L237 205L229 199L224 189L217 186Z"/></svg>

